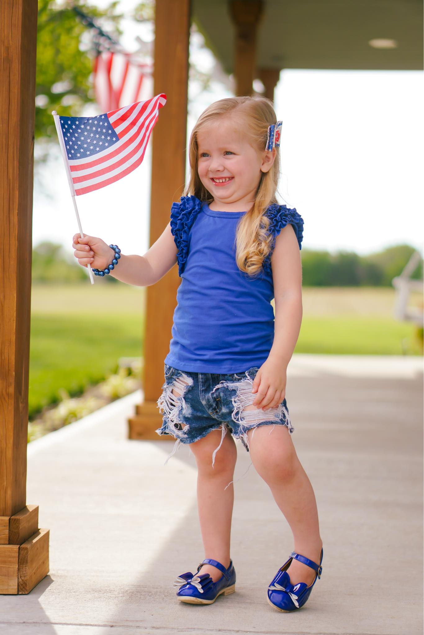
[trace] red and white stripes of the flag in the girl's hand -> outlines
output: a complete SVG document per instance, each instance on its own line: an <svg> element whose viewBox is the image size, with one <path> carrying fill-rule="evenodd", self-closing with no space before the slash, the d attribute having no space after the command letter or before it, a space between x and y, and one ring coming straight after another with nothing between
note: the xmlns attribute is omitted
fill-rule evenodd
<svg viewBox="0 0 424 635"><path fill-rule="evenodd" d="M166 103L167 96L162 93L106 113L119 141L93 157L69 160L76 196L106 187L140 165L159 109Z"/></svg>

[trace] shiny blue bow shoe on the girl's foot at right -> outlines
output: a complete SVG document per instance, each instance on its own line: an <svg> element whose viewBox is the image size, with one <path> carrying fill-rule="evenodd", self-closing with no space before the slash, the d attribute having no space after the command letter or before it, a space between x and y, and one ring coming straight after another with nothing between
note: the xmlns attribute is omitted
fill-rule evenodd
<svg viewBox="0 0 424 635"><path fill-rule="evenodd" d="M278 608L279 611L283 611L284 613L296 611L297 608L302 608L309 598L312 587L315 582L317 582L317 578L321 577L322 556L323 550L321 549L320 563L317 565L317 563L313 562L313 560L310 560L309 558L306 558L306 556L301 556L300 554L297 554L296 551L292 551L290 558L284 563L282 568L278 569L275 578L268 587L268 602L270 605ZM309 587L306 585L306 582L291 584L290 576L286 569L289 568L293 558L296 558L299 562L303 562L304 565L310 566L317 572L317 575L315 575L315 578Z"/></svg>

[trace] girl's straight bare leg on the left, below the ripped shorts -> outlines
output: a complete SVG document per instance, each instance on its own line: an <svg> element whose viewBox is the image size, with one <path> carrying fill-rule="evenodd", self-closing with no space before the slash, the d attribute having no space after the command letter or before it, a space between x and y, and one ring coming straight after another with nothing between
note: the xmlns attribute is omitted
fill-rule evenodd
<svg viewBox="0 0 424 635"><path fill-rule="evenodd" d="M190 449L198 469L197 506L205 558L214 558L228 568L234 486L231 483L225 487L233 480L237 450L233 437L227 432L212 467L212 453L219 446L221 434L221 430L212 430L203 439L191 443ZM209 573L214 582L222 577L222 572L213 565L202 565L199 574L202 573Z"/></svg>

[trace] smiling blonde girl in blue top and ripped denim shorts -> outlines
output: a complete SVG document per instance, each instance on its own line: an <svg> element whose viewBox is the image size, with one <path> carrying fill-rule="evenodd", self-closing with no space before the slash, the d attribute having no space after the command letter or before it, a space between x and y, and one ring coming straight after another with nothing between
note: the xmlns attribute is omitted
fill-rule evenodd
<svg viewBox="0 0 424 635"><path fill-rule="evenodd" d="M172 204L170 224L144 256L118 254L110 274L148 286L178 262L182 277L158 399L163 425L156 432L176 439L171 455L181 443L195 455L206 557L195 575L177 577L177 598L211 604L235 591L231 478L234 439L241 439L293 533L295 551L267 591L271 606L288 612L310 596L323 549L315 495L292 443L285 400L302 318L303 220L277 202L278 146L270 100L211 104L191 133L191 177L181 201ZM103 269L116 257L116 245L97 237L75 234L72 246L84 266Z"/></svg>

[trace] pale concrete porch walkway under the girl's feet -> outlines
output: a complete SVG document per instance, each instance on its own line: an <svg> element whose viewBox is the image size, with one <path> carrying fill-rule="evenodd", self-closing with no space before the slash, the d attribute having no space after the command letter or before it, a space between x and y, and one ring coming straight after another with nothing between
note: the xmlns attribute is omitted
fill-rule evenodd
<svg viewBox="0 0 424 635"><path fill-rule="evenodd" d="M4 635L421 635L423 366L418 358L296 354L292 440L317 497L323 573L294 613L266 588L292 535L253 465L235 485L236 592L210 606L172 584L203 559L195 459L128 441L141 391L33 441L28 504L50 528L50 574L0 596ZM238 444L235 478L250 464Z"/></svg>

